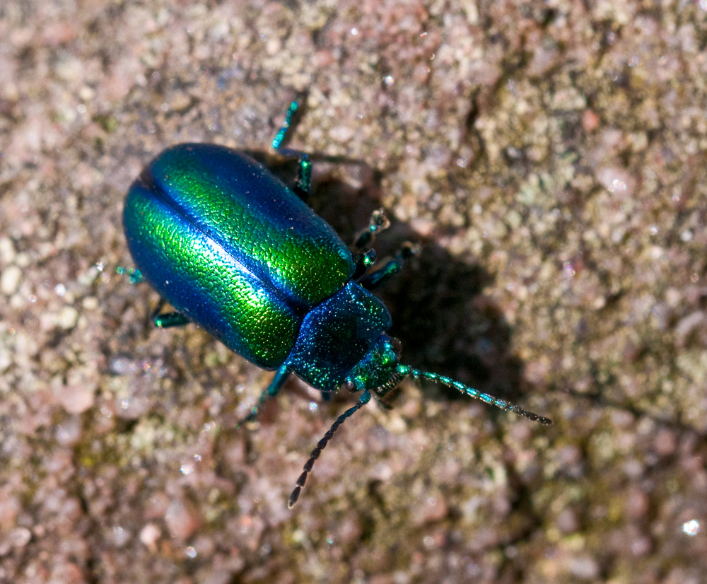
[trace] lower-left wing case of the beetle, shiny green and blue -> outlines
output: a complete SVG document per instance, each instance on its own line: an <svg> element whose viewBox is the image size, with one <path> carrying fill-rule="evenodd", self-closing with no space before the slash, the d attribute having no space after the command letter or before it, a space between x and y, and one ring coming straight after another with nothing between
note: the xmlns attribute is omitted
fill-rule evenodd
<svg viewBox="0 0 707 584"><path fill-rule="evenodd" d="M238 269L223 246L144 189L131 189L124 223L136 263L178 312L197 320L226 346L237 346L258 366L281 365L300 324L287 303Z"/></svg>

